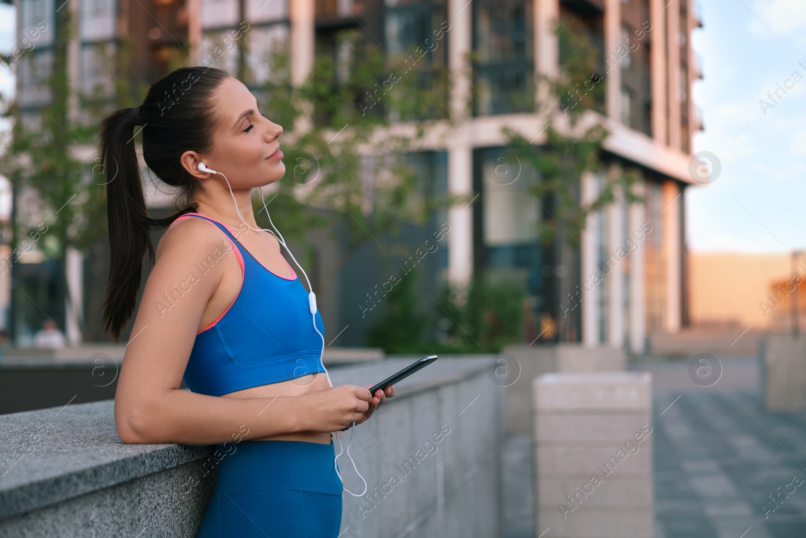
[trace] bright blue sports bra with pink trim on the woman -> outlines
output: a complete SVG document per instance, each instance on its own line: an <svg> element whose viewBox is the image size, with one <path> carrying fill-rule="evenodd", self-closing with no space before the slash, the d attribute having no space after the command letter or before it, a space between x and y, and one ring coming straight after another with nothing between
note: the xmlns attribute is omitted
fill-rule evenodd
<svg viewBox="0 0 806 538"><path fill-rule="evenodd" d="M308 306L308 291L297 273L280 277L266 269L235 239L226 224L209 220L237 246L243 283L235 302L210 326L198 332L185 368L185 384L199 394L220 396L252 386L288 381L309 373L326 372L320 360L325 327L319 311L314 330ZM209 270L210 261L223 256L222 249L196 264L199 273ZM199 275L201 277L201 274Z"/></svg>

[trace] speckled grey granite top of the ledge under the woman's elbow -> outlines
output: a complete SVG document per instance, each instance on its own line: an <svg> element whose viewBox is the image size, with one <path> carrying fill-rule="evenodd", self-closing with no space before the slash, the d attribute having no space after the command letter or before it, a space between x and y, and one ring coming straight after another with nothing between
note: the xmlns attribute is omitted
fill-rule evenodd
<svg viewBox="0 0 806 538"><path fill-rule="evenodd" d="M0 440L0 520L213 453L208 446L124 444L114 400L0 415L0 430L7 432Z"/></svg>

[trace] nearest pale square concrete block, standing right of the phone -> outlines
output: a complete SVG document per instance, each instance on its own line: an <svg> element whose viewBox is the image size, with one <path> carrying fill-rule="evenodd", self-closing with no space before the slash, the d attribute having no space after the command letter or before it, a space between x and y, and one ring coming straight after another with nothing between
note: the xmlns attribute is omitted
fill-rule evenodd
<svg viewBox="0 0 806 538"><path fill-rule="evenodd" d="M535 536L652 538L651 379L647 372L534 379Z"/></svg>

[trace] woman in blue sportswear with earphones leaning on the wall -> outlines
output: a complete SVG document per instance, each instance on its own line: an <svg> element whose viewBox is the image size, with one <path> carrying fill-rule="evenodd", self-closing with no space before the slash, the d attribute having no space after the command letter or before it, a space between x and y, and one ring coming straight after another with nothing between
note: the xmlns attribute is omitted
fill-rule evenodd
<svg viewBox="0 0 806 538"><path fill-rule="evenodd" d="M146 210L139 131L146 165L177 191L182 209L167 219ZM252 189L285 173L282 133L245 85L203 67L177 69L142 105L102 123L111 261L102 323L115 342L135 308L143 255L154 260L115 425L124 443L217 445L204 538L338 536L343 485L331 432L394 396L391 386L370 394L370 385L330 385L315 301L280 241L255 222ZM164 236L155 258L156 227ZM180 390L183 377L190 391Z"/></svg>

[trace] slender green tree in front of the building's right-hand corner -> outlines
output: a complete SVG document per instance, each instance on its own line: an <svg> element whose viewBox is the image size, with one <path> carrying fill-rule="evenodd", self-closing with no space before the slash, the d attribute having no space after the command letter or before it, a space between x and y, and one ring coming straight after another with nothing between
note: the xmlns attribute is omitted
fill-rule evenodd
<svg viewBox="0 0 806 538"><path fill-rule="evenodd" d="M558 77L538 77L538 116L546 119L546 144L534 146L531 138L504 127L509 148L518 161L538 173L530 193L550 212L551 219L538 220L538 235L550 243L557 225L567 231L572 248L579 247L585 221L615 200L621 190L627 202L640 202L633 185L640 176L629 168L608 176L591 203L580 203L580 178L603 169L602 144L610 132L604 124L605 85L601 72L601 49L575 19L563 18L555 27L560 49Z"/></svg>

